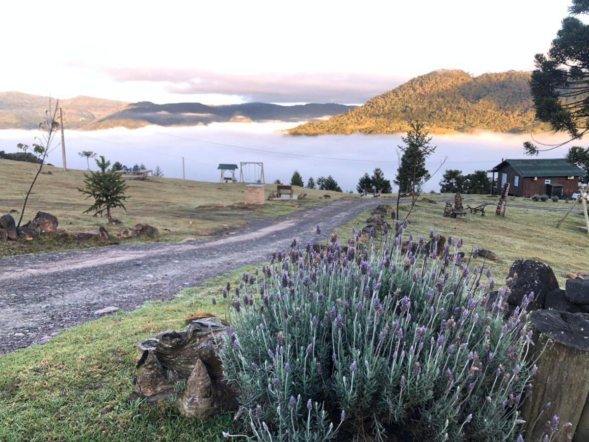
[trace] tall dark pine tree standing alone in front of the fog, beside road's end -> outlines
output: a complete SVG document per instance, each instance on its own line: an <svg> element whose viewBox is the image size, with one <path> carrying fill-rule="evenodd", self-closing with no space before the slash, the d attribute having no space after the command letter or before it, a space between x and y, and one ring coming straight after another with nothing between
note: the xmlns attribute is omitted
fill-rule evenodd
<svg viewBox="0 0 589 442"><path fill-rule="evenodd" d="M405 146L399 146L403 156L395 184L399 186L399 193L413 193L421 189L423 182L429 179L425 159L434 153L436 147L429 145L432 137L429 137L428 131L419 122L412 123L411 130L401 140Z"/></svg>

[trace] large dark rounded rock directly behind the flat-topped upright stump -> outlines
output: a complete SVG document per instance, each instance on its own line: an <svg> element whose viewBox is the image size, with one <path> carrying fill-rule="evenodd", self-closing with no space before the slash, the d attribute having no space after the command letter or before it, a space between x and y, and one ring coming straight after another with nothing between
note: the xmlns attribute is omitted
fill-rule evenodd
<svg viewBox="0 0 589 442"><path fill-rule="evenodd" d="M514 278L515 275L517 278ZM532 259L515 261L509 268L507 278L514 278L509 287L511 290L507 298L509 304L521 305L524 296L534 292L534 301L528 305L528 311L541 309L544 305L544 296L558 288L558 281L550 266Z"/></svg>

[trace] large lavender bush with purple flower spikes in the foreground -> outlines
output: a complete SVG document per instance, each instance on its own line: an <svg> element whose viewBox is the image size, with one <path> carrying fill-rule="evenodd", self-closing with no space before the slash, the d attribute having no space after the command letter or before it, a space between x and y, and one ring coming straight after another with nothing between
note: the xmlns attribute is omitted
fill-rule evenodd
<svg viewBox="0 0 589 442"><path fill-rule="evenodd" d="M521 441L518 405L534 374L524 308L485 292L439 236L380 244L333 235L320 252L293 240L224 295L232 326L221 360L256 440ZM390 242L390 244L389 244ZM531 295L533 296L533 294ZM226 436L231 436L226 434Z"/></svg>

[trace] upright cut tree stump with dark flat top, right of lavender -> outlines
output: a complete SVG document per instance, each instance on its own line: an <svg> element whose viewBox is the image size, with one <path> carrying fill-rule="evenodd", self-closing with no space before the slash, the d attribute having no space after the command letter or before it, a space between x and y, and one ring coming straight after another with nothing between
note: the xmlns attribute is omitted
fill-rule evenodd
<svg viewBox="0 0 589 442"><path fill-rule="evenodd" d="M552 441L564 442L577 427L575 440L587 441L589 412L583 413L583 406L589 394L589 314L537 310L531 313L530 322L536 342L531 360L538 358L538 372L522 409L528 425L525 438L540 440L544 423L556 414L561 426L570 422L572 427L560 431ZM550 407L544 410L548 403Z"/></svg>

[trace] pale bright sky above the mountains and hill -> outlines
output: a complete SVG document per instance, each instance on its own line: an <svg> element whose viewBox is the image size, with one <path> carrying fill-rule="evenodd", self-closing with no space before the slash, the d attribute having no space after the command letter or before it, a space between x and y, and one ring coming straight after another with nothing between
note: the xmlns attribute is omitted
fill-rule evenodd
<svg viewBox="0 0 589 442"><path fill-rule="evenodd" d="M532 70L569 0L2 5L0 91L360 104L436 69Z"/></svg>

